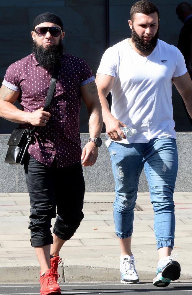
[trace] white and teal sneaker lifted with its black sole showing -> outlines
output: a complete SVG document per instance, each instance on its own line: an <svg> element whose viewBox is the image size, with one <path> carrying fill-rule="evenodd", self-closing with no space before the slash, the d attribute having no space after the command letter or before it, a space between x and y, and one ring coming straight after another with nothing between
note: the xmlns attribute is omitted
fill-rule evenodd
<svg viewBox="0 0 192 295"><path fill-rule="evenodd" d="M176 281L180 277L180 264L173 260L178 254L167 256L159 260L153 285L157 287L169 286L171 280Z"/></svg>

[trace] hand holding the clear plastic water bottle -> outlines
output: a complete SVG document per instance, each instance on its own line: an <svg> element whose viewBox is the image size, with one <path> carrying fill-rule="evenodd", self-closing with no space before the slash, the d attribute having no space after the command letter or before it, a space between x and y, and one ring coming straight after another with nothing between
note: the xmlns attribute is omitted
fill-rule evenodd
<svg viewBox="0 0 192 295"><path fill-rule="evenodd" d="M121 137L126 139L125 134L123 131L120 129L120 127L126 127L127 125L124 124L123 122L115 119L112 115L108 119L108 122L105 122L105 127L106 127L106 132L109 135L109 137L112 140L122 140ZM121 135L121 137L118 135L118 133Z"/></svg>

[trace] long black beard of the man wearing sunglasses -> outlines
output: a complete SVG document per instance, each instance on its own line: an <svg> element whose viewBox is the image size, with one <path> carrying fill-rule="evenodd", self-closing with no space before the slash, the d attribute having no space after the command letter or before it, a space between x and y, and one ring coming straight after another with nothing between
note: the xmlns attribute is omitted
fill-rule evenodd
<svg viewBox="0 0 192 295"><path fill-rule="evenodd" d="M58 45L47 45L46 47L38 45L38 43L34 40L33 53L40 66L49 72L53 72L56 65L60 63L63 53L62 40L59 40Z"/></svg>

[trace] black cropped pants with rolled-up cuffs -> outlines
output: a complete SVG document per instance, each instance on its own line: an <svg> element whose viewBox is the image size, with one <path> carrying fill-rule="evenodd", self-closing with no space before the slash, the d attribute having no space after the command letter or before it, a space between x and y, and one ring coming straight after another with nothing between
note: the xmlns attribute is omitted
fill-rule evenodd
<svg viewBox="0 0 192 295"><path fill-rule="evenodd" d="M53 233L69 240L84 217L84 178L81 161L73 166L57 168L56 158L51 167L30 156L24 165L30 196L30 225L32 247L53 244L51 219L57 218Z"/></svg>

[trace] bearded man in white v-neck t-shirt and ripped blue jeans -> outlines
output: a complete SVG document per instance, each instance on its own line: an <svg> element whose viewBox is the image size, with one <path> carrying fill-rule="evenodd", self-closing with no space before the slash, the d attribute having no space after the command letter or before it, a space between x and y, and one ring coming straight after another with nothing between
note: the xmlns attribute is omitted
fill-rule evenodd
<svg viewBox="0 0 192 295"><path fill-rule="evenodd" d="M159 12L153 3L136 2L128 22L131 38L105 51L96 77L116 184L113 207L121 247L121 283L139 282L131 235L139 176L144 168L159 254L153 284L165 287L180 276L180 265L173 260L175 255L171 257L175 232L173 192L178 169L172 83L192 116L192 82L180 51L158 39ZM111 112L106 100L110 91ZM137 134L126 138L120 129L125 126L136 128Z"/></svg>

